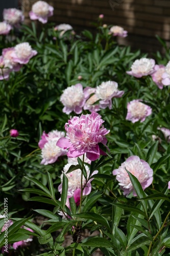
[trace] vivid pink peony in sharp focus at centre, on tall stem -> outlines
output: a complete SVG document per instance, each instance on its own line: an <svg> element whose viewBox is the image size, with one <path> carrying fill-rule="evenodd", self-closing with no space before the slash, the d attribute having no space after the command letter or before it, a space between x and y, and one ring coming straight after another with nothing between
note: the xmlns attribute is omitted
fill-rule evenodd
<svg viewBox="0 0 170 256"><path fill-rule="evenodd" d="M98 144L101 142L106 145L105 136L110 132L104 128L103 122L104 120L96 112L71 118L65 124L67 138L59 139L57 146L69 148L68 157L79 157L86 153L91 161L98 159L100 154L105 154Z"/></svg>

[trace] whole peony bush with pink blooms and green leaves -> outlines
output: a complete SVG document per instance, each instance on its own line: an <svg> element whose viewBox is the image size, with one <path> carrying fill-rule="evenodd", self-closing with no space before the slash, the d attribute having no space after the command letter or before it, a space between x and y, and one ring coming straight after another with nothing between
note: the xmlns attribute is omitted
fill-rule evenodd
<svg viewBox="0 0 170 256"><path fill-rule="evenodd" d="M0 23L0 254L169 255L170 51L53 11Z"/></svg>

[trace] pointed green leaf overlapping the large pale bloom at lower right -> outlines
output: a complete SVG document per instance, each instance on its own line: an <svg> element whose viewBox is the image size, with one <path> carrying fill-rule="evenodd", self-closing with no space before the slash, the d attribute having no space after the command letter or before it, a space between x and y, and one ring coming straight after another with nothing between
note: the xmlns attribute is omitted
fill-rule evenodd
<svg viewBox="0 0 170 256"><path fill-rule="evenodd" d="M135 192L136 192L138 198L140 199L140 198L145 197L147 194L144 193L143 188L140 185L140 182L138 181L138 179L133 174L131 174L128 170L127 170L127 173L129 174L129 178L132 182L133 188L135 189ZM141 204L142 204L143 209L145 211L145 215L148 216L148 214L147 214L147 209L148 209L147 201L142 200Z"/></svg>

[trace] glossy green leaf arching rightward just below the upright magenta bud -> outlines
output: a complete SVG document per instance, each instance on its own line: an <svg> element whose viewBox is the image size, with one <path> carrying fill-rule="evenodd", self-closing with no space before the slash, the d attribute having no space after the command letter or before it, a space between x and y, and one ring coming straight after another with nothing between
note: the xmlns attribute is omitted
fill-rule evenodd
<svg viewBox="0 0 170 256"><path fill-rule="evenodd" d="M95 214L94 212L81 212L81 214L75 214L74 216L81 218L81 219L83 218L83 219L96 221L96 222L106 226L108 228L108 230L111 231L111 228L109 226L107 219L99 214Z"/></svg>

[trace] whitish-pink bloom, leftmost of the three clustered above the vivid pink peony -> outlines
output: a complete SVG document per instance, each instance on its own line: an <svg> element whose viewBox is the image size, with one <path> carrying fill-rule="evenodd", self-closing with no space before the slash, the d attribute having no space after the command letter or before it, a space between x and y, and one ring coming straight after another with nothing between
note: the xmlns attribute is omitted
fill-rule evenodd
<svg viewBox="0 0 170 256"><path fill-rule="evenodd" d="M75 86L67 87L61 95L60 101L64 105L63 112L67 115L72 111L81 114L85 103L82 84L77 83Z"/></svg>

